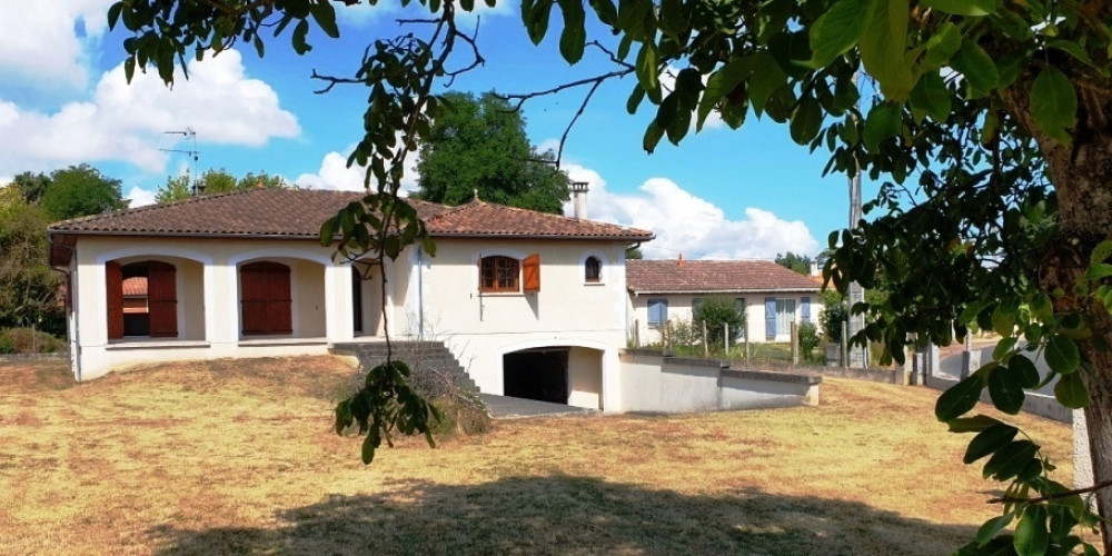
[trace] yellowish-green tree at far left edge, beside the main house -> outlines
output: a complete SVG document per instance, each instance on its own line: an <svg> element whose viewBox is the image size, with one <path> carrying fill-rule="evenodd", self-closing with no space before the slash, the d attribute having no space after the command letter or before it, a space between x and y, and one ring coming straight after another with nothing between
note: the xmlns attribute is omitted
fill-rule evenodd
<svg viewBox="0 0 1112 556"><path fill-rule="evenodd" d="M0 328L64 330L58 275L47 259L49 224L47 210L28 202L21 189L0 188Z"/></svg>

